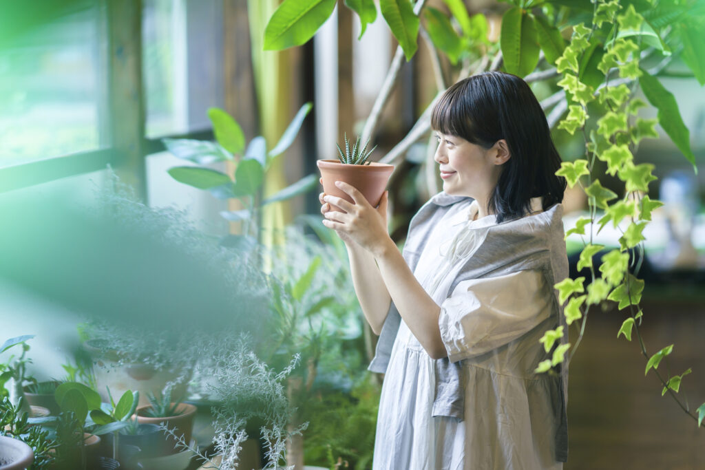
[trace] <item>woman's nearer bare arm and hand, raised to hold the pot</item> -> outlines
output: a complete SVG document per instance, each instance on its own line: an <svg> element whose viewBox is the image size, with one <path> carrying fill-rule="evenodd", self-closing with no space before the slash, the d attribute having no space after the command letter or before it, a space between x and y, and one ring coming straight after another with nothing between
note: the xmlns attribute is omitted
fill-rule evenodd
<svg viewBox="0 0 705 470"><path fill-rule="evenodd" d="M336 230L343 240L354 241L369 253L367 256L372 257L379 266L379 273L388 295L424 350L433 359L446 357L448 353L439 329L441 307L431 299L415 278L389 237L386 224L380 214L355 187L343 182L336 184L341 190L350 194L355 204L339 197L329 195L324 197L325 202L336 205L347 213L326 212L324 225ZM364 268L364 266L361 267ZM360 272L360 276L366 274L367 271ZM362 299L360 302L362 303Z"/></svg>

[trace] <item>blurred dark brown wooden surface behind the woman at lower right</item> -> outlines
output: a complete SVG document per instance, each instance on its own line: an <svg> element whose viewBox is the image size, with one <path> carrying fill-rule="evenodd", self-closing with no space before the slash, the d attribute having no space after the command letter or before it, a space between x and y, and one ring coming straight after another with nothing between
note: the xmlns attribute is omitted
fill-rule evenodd
<svg viewBox="0 0 705 470"><path fill-rule="evenodd" d="M642 335L649 354L675 344L658 370L683 378L679 395L690 409L705 402L705 304L642 302ZM705 469L705 427L661 396L636 338L617 340L625 316L594 311L570 364L569 453L565 470ZM668 369L667 369L668 366ZM705 426L705 423L704 423Z"/></svg>

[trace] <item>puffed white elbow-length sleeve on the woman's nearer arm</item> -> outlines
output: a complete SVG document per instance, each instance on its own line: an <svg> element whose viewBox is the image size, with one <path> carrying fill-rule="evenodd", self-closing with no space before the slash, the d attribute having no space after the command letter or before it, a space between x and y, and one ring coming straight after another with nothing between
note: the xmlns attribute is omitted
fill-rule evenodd
<svg viewBox="0 0 705 470"><path fill-rule="evenodd" d="M450 361L519 338L551 314L553 290L541 271L463 280L441 304L439 326Z"/></svg>

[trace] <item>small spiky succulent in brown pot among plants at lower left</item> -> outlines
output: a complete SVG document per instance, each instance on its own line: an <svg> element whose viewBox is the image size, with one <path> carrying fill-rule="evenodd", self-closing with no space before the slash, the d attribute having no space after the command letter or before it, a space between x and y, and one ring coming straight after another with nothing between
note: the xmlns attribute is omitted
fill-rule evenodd
<svg viewBox="0 0 705 470"><path fill-rule="evenodd" d="M149 404L137 407L137 423L156 425L163 423L173 430L173 434L190 443L196 407L189 403L182 403L180 400L171 401L171 390L168 388L159 397L150 393L147 398ZM166 440L170 452L177 452L178 440L173 435L166 436Z"/></svg>

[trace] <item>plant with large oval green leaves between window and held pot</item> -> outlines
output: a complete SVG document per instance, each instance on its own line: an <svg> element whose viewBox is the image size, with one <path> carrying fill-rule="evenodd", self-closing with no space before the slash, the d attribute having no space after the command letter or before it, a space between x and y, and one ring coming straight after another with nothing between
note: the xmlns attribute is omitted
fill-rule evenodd
<svg viewBox="0 0 705 470"><path fill-rule="evenodd" d="M216 137L215 143L187 139L163 140L168 151L180 159L198 165L226 161L235 166L234 180L226 173L202 166L176 166L168 171L178 182L208 190L218 199L240 201L244 209L221 212L221 216L228 221L242 221L244 224L242 235L228 237L228 245L244 244L245 248L254 247L261 238L259 218L264 206L290 199L312 190L317 185L316 176L308 175L276 194L262 197L262 185L267 171L274 160L292 144L311 107L310 103L301 107L279 142L269 151L262 136L253 138L245 147L245 135L240 125L226 111L217 108L208 110Z"/></svg>

